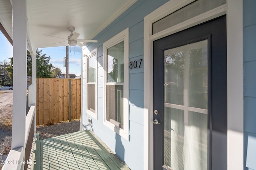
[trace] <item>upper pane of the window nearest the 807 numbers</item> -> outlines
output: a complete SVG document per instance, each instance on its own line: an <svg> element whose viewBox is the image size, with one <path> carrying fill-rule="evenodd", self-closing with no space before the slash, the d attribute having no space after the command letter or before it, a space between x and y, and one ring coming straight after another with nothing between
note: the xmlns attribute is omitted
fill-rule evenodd
<svg viewBox="0 0 256 170"><path fill-rule="evenodd" d="M107 49L107 82L124 82L124 41Z"/></svg>

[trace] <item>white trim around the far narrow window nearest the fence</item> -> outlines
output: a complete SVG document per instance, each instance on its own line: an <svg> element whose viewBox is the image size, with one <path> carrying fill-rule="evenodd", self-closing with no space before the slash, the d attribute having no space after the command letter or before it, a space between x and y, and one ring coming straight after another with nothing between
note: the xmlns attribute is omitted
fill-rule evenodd
<svg viewBox="0 0 256 170"><path fill-rule="evenodd" d="M95 59L96 59L96 70L95 70L95 113L93 113L92 111L90 111L88 109L88 59L93 57L95 55ZM94 49L93 51L90 52L90 54L84 56L85 59L85 64L86 64L86 73L85 73L85 77L86 77L86 114L90 115L91 117L93 117L94 119L98 120L98 51L97 48ZM90 84L90 83L89 83ZM93 83L94 84L94 83Z"/></svg>

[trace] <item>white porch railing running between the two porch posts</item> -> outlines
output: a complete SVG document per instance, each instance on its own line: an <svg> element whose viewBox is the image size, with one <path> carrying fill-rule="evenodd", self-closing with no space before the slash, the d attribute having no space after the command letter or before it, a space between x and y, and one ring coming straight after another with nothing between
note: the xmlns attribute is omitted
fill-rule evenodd
<svg viewBox="0 0 256 170"><path fill-rule="evenodd" d="M11 149L2 170L21 170L27 169L30 163L30 151L32 149L32 142L35 133L35 105L33 104L26 116L26 131L25 131L25 141L24 147L18 147ZM17 129L18 130L18 129Z"/></svg>

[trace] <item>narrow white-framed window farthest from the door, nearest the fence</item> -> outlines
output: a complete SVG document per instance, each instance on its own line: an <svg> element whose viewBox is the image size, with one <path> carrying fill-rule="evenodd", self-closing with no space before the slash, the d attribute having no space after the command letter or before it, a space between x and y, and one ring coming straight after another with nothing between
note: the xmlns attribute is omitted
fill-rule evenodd
<svg viewBox="0 0 256 170"><path fill-rule="evenodd" d="M98 119L97 114L97 70L96 50L85 57L86 60L86 113Z"/></svg>

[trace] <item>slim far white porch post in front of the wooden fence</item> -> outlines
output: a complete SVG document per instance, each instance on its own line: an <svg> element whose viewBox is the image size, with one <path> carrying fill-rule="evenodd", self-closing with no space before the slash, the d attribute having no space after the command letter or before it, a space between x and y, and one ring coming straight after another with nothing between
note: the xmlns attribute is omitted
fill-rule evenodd
<svg viewBox="0 0 256 170"><path fill-rule="evenodd" d="M35 104L35 132L36 132L36 49L33 49L32 55L32 103Z"/></svg>

